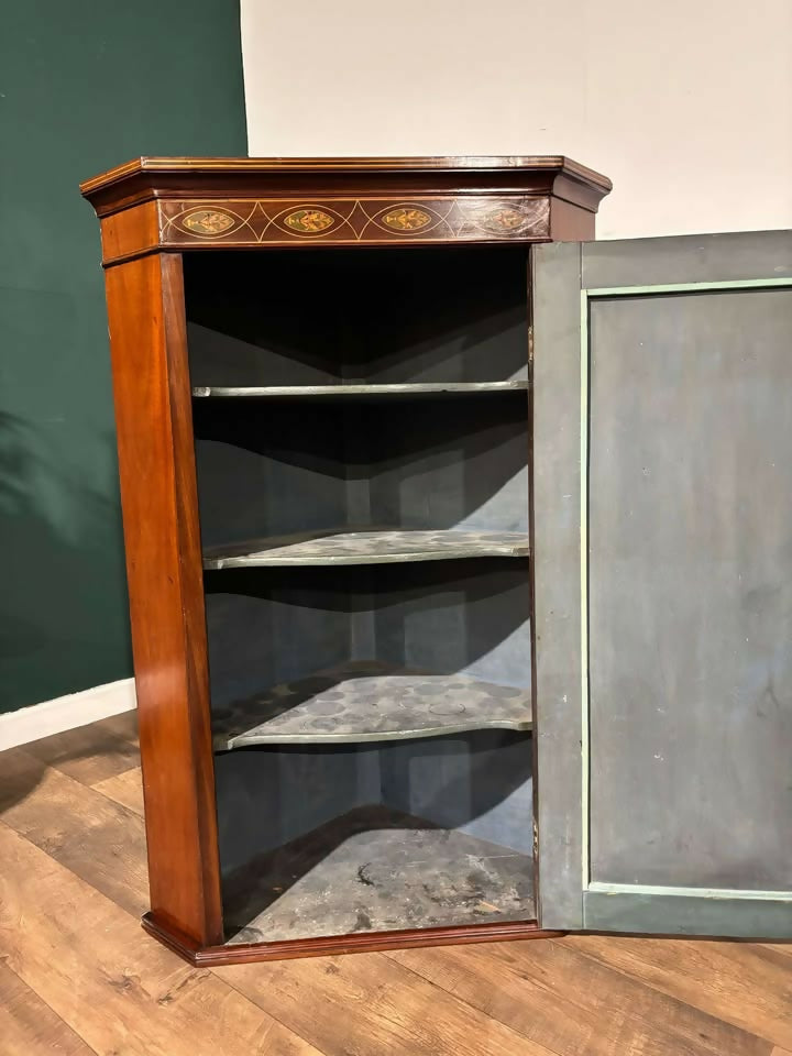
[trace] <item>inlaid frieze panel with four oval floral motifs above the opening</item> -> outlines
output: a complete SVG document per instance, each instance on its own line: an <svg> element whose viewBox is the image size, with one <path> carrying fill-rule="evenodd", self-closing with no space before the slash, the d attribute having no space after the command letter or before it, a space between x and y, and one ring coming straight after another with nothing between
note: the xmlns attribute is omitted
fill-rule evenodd
<svg viewBox="0 0 792 1056"><path fill-rule="evenodd" d="M547 198L160 201L160 244L453 242L549 238Z"/></svg>

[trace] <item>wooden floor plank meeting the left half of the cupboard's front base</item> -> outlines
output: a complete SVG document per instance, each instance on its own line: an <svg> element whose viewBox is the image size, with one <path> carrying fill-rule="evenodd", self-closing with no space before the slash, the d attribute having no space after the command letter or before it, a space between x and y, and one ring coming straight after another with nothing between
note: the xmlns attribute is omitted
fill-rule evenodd
<svg viewBox="0 0 792 1056"><path fill-rule="evenodd" d="M327 1056L552 1054L382 954L212 970Z"/></svg>

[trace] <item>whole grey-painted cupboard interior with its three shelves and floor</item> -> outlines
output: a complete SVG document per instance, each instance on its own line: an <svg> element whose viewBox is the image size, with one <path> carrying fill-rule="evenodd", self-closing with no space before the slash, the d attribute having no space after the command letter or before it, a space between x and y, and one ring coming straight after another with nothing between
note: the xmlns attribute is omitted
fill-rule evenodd
<svg viewBox="0 0 792 1056"><path fill-rule="evenodd" d="M227 939L534 920L525 249L185 284Z"/></svg>

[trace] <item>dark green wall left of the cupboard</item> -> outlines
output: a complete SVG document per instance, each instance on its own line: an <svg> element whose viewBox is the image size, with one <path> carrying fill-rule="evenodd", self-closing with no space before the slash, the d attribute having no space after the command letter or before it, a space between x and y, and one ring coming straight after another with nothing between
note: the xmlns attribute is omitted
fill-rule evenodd
<svg viewBox="0 0 792 1056"><path fill-rule="evenodd" d="M246 152L234 0L24 0L0 32L0 711L132 673L99 266L79 180Z"/></svg>

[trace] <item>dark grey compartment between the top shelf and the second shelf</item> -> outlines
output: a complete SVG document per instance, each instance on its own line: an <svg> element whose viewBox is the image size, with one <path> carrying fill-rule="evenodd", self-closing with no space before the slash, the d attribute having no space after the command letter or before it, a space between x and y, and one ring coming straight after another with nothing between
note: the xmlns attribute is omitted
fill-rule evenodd
<svg viewBox="0 0 792 1056"><path fill-rule="evenodd" d="M365 526L527 531L525 392L195 402L205 547Z"/></svg>

